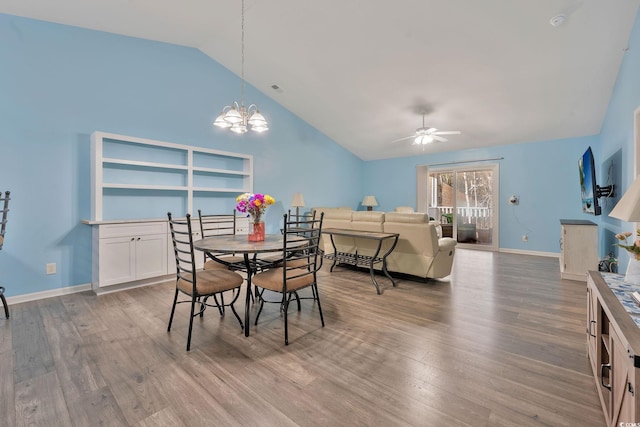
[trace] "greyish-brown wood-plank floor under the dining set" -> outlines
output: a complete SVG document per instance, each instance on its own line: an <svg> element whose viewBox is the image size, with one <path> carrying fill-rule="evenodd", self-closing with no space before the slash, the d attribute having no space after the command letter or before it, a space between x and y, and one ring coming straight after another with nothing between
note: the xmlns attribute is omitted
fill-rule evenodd
<svg viewBox="0 0 640 427"><path fill-rule="evenodd" d="M187 353L187 305L166 331L172 283L15 304L0 425L604 425L585 284L557 259L458 250L449 281L378 280L382 295L325 265L326 327L312 301L292 305L286 347L271 304L248 338L207 310Z"/></svg>

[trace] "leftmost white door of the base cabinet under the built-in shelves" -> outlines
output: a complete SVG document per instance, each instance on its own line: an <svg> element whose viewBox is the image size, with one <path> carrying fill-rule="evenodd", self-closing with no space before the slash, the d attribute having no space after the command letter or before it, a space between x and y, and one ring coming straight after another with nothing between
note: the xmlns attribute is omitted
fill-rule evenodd
<svg viewBox="0 0 640 427"><path fill-rule="evenodd" d="M99 286L135 280L133 237L111 237L99 241Z"/></svg>

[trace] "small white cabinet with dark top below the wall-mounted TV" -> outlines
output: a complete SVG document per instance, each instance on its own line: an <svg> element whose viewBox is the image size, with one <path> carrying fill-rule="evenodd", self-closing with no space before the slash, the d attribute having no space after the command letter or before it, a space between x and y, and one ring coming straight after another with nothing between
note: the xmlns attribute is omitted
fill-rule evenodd
<svg viewBox="0 0 640 427"><path fill-rule="evenodd" d="M598 270L598 226L585 220L560 220L560 275L587 281L587 271Z"/></svg>

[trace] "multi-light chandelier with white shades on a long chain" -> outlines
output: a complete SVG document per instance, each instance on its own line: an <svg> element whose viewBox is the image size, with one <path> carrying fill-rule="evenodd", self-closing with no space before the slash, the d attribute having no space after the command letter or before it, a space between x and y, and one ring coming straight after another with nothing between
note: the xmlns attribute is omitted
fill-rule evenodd
<svg viewBox="0 0 640 427"><path fill-rule="evenodd" d="M242 79L240 104L233 101L231 105L225 106L213 124L240 134L247 132L248 129L254 132L269 130L267 121L256 104L251 104L249 107L244 106L244 0L242 0L242 62L240 72Z"/></svg>

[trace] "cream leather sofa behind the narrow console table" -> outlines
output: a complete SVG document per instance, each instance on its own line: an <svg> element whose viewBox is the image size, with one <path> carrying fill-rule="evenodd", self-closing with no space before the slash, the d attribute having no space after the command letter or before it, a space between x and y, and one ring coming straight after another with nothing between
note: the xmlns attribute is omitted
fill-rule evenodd
<svg viewBox="0 0 640 427"><path fill-rule="evenodd" d="M349 208L317 207L316 216L324 212L322 228L345 228L351 230L398 233L398 244L387 258L390 272L427 278L443 278L451 274L457 242L455 239L438 238L436 223L429 222L423 213L353 211ZM373 255L377 242L368 239L334 236L338 252ZM386 241L382 248L389 248ZM322 249L333 253L330 236L323 234ZM382 269L382 265L377 266Z"/></svg>

